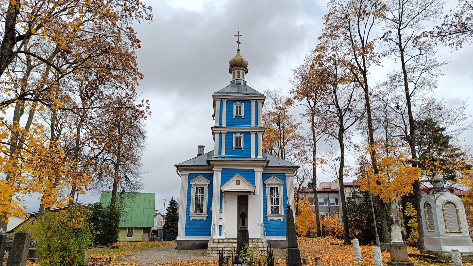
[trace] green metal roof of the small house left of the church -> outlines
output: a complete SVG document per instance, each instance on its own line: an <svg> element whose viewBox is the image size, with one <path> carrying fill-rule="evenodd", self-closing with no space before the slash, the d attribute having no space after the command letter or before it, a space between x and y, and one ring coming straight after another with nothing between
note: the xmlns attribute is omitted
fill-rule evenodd
<svg viewBox="0 0 473 266"><path fill-rule="evenodd" d="M121 207L120 227L153 227L155 193L118 192L116 202ZM112 192L102 191L100 202L110 204Z"/></svg>

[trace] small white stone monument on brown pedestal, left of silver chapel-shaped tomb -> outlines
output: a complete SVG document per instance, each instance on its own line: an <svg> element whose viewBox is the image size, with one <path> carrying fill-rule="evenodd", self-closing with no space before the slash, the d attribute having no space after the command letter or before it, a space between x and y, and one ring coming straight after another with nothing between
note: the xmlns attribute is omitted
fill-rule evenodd
<svg viewBox="0 0 473 266"><path fill-rule="evenodd" d="M414 265L414 263L409 262L407 246L404 245L401 227L399 227L397 222L391 225L391 245L389 245L389 252L391 253L391 261L386 262L388 265Z"/></svg>

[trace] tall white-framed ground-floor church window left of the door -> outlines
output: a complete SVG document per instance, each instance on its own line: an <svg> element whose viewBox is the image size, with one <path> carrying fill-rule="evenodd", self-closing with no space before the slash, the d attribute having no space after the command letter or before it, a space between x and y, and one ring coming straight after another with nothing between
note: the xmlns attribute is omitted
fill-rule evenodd
<svg viewBox="0 0 473 266"><path fill-rule="evenodd" d="M209 184L210 180L199 175L193 178L189 183L191 183L191 221L196 220L205 220L207 221L207 210L208 204L207 199L209 198Z"/></svg>

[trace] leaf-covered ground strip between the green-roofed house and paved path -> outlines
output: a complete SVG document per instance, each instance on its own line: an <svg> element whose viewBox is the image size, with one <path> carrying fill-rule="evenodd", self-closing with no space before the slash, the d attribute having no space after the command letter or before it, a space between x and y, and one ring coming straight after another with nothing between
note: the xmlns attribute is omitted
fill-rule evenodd
<svg viewBox="0 0 473 266"><path fill-rule="evenodd" d="M88 249L88 257L120 257L131 253L136 253L148 249L160 248L174 245L176 241L143 241L143 242L117 242L114 246L118 248L92 248Z"/></svg>

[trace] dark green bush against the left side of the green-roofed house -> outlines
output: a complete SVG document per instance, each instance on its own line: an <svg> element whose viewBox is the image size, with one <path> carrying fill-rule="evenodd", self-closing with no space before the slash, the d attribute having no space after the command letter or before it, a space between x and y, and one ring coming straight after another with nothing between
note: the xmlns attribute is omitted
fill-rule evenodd
<svg viewBox="0 0 473 266"><path fill-rule="evenodd" d="M90 222L93 227L94 244L107 246L118 241L120 233L120 209L116 204L104 207L101 203L91 205Z"/></svg>

